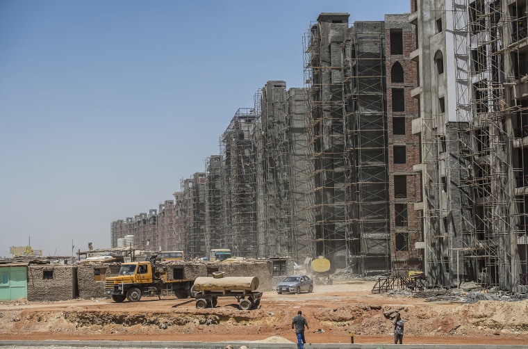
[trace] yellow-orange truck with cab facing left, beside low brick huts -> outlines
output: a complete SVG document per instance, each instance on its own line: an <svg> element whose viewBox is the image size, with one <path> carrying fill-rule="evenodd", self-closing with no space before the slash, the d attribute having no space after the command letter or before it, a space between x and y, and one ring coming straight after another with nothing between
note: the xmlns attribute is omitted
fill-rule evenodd
<svg viewBox="0 0 528 349"><path fill-rule="evenodd" d="M156 256L150 261L122 263L119 275L106 278L105 294L115 302L138 302L142 295L171 292L177 298L188 298L194 284L192 279L167 279L167 268L156 267Z"/></svg>

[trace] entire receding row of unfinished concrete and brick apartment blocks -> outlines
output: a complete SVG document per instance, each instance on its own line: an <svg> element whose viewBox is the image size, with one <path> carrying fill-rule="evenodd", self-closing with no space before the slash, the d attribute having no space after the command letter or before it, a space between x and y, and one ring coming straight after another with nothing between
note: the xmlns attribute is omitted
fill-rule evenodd
<svg viewBox="0 0 528 349"><path fill-rule="evenodd" d="M321 13L304 88L267 81L163 220L160 206L113 222L113 245L322 255L354 275L526 291L527 0L410 10L352 25Z"/></svg>

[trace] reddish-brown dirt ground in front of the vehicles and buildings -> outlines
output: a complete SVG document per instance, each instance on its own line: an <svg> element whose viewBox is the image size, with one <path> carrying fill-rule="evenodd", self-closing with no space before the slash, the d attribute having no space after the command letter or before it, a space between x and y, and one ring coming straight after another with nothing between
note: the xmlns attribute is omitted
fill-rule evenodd
<svg viewBox="0 0 528 349"><path fill-rule="evenodd" d="M385 314L399 310L407 344L528 343L528 300L427 301L411 293L372 294L373 281L316 285L313 293L265 292L258 309L241 311L235 298L196 309L191 298L0 302L2 340L295 342L291 320L301 309L308 343L393 343Z"/></svg>

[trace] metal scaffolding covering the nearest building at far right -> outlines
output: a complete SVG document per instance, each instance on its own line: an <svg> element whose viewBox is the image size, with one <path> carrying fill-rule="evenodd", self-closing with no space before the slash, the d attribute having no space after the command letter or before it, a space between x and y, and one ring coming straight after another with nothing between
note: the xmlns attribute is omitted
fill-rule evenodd
<svg viewBox="0 0 528 349"><path fill-rule="evenodd" d="M528 51L526 2L453 0L447 11L454 29L457 127L451 141L459 152L462 233L450 253L462 252L456 268L468 279L515 291L527 272L522 129L528 105L515 96L526 86L520 72ZM428 261L436 263L438 250L432 252L436 258Z"/></svg>

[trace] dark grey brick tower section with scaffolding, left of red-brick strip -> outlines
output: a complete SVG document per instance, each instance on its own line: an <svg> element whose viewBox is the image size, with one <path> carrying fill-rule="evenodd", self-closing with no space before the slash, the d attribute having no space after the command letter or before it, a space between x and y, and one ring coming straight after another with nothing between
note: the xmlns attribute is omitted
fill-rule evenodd
<svg viewBox="0 0 528 349"><path fill-rule="evenodd" d="M352 273L390 270L385 28L322 13L305 35L309 237Z"/></svg>

